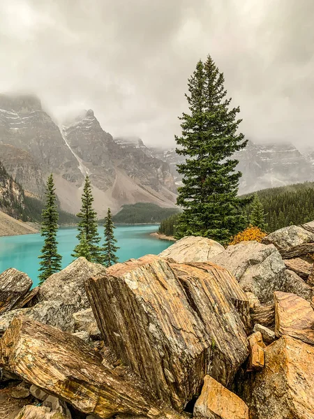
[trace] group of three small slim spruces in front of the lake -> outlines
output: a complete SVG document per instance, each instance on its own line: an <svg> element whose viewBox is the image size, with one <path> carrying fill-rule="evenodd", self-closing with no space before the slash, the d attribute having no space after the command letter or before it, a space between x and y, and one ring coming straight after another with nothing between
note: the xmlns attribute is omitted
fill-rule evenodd
<svg viewBox="0 0 314 419"><path fill-rule="evenodd" d="M91 193L91 182L89 177L85 178L82 193L82 207L77 214L80 222L77 224L78 244L73 249L73 258L83 256L89 262L101 263L107 267L117 263L117 239L114 237L114 223L110 208L105 217L105 240L100 244L101 237L98 234L97 214L93 208L94 197ZM39 281L40 284L50 275L61 270L62 257L58 253L57 231L59 213L57 208L57 196L54 188L54 179L51 174L47 179L45 191L45 207L42 212L41 235L44 237L43 248L41 249Z"/></svg>

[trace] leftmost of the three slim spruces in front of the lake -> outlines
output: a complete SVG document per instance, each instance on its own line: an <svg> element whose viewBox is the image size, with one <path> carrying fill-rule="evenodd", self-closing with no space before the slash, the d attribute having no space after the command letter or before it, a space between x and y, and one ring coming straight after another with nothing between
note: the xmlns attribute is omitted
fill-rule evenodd
<svg viewBox="0 0 314 419"><path fill-rule="evenodd" d="M38 256L40 267L39 283L43 284L50 275L61 270L62 257L57 251L57 231L59 214L56 205L56 194L52 174L47 179L45 191L45 207L42 212L41 235L45 237L43 249Z"/></svg>

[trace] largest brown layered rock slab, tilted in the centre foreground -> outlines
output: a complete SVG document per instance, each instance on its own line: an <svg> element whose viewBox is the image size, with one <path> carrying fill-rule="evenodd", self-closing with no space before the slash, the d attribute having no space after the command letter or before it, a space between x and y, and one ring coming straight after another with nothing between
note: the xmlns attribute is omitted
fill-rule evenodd
<svg viewBox="0 0 314 419"><path fill-rule="evenodd" d="M105 344L177 409L200 393L207 373L230 383L248 355L245 325L223 276L248 309L237 281L211 264L171 265L149 255L87 280Z"/></svg>

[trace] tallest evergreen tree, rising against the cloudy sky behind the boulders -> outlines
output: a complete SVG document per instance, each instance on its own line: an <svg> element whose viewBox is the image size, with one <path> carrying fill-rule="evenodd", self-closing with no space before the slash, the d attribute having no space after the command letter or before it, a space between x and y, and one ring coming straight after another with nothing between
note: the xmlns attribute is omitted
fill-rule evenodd
<svg viewBox="0 0 314 419"><path fill-rule="evenodd" d="M189 113L181 119L177 153L186 156L178 165L184 175L177 204L184 209L177 225L177 237L202 235L225 242L246 226L243 208L251 201L237 196L241 172L236 171L235 152L246 147L237 133L241 119L238 108L230 109L223 73L210 56L198 61L188 80Z"/></svg>

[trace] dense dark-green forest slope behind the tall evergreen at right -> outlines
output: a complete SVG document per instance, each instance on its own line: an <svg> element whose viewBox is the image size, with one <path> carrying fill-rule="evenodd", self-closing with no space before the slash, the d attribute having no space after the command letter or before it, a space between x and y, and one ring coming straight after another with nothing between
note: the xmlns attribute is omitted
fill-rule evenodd
<svg viewBox="0 0 314 419"><path fill-rule="evenodd" d="M314 182L263 189L257 191L257 195L264 207L268 233L314 220ZM248 223L250 213L251 205L248 205L246 207ZM174 235L178 217L179 214L175 214L160 223L159 233Z"/></svg>

